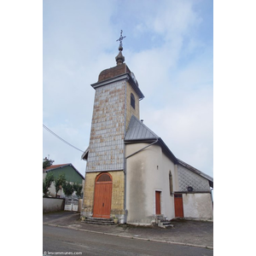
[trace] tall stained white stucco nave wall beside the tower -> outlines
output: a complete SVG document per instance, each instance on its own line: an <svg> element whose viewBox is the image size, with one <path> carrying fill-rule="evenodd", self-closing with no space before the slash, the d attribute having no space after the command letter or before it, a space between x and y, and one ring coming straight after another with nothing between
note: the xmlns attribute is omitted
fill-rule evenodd
<svg viewBox="0 0 256 256"><path fill-rule="evenodd" d="M147 146L147 143L128 144L126 156ZM170 195L169 172L173 190L177 189L177 170L158 145L152 145L126 160L127 223L151 224L155 214L155 191L161 192L161 214L174 218L173 195Z"/></svg>

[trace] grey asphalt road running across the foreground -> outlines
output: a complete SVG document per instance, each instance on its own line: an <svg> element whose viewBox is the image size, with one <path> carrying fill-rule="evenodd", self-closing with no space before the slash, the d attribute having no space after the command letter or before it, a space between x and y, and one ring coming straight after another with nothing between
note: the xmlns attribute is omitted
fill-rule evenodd
<svg viewBox="0 0 256 256"><path fill-rule="evenodd" d="M211 249L180 246L165 242L143 241L82 230L43 226L43 254L46 255L156 255L209 256ZM58 252L58 253L56 253ZM62 253L61 253L62 252ZM67 254L67 252L70 252Z"/></svg>

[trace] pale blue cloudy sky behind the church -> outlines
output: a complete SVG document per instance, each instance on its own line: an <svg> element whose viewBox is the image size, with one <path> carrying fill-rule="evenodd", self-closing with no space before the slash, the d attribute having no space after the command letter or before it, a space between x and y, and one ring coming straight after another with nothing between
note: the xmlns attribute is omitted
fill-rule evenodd
<svg viewBox="0 0 256 256"><path fill-rule="evenodd" d="M145 98L143 123L172 153L213 177L213 2L205 0L43 1L43 124L84 151L99 73L125 63ZM86 161L43 129L43 155Z"/></svg>

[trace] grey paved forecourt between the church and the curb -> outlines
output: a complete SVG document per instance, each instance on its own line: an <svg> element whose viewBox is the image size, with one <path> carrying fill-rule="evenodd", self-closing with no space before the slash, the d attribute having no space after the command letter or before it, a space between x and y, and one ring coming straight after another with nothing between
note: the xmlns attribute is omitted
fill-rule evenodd
<svg viewBox="0 0 256 256"><path fill-rule="evenodd" d="M129 224L98 225L85 224L79 220L80 214L73 212L53 212L43 214L43 224L66 227L86 232L97 232L111 236L160 241L207 247L213 249L213 222L195 220L172 220L173 228L138 227Z"/></svg>

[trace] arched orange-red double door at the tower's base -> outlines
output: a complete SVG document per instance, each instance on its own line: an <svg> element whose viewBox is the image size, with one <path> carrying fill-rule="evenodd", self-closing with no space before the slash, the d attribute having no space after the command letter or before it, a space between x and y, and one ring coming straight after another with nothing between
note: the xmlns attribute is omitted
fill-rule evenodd
<svg viewBox="0 0 256 256"><path fill-rule="evenodd" d="M112 177L103 172L96 177L94 190L94 218L110 218L112 199Z"/></svg>

